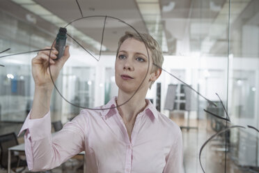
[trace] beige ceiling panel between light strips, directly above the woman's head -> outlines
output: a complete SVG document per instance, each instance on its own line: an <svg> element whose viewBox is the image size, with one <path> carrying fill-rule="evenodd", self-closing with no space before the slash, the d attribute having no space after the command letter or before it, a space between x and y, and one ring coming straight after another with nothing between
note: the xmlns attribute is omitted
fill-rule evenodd
<svg viewBox="0 0 259 173"><path fill-rule="evenodd" d="M52 11L58 17L71 22L72 20L81 18L81 13L76 1L71 0L36 0L41 6ZM105 1L107 2L107 1ZM109 3L104 3L101 0L95 1L79 1L82 14L84 17L77 22L73 22L72 25L82 31L87 36L90 36L94 40L101 42L102 30L104 27L105 17L90 17L95 15L117 17L120 20L127 22L134 29L139 32L147 32L146 25L141 19L141 14L134 1L128 0L110 0ZM57 8L58 7L58 8ZM131 30L127 24L118 22L113 18L107 17L104 30L103 45L105 45L108 51L114 52L118 47L118 39L127 30ZM69 32L69 31L68 31Z"/></svg>

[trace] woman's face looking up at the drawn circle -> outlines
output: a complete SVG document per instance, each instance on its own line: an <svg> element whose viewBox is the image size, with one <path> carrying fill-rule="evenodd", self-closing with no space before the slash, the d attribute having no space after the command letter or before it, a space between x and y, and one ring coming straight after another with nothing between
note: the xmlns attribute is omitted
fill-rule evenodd
<svg viewBox="0 0 259 173"><path fill-rule="evenodd" d="M120 90L133 94L141 85L141 91L148 91L150 77L153 74L150 73L152 68L151 56L151 52L150 50L147 52L145 44L134 38L127 38L120 45L115 63L115 79Z"/></svg>

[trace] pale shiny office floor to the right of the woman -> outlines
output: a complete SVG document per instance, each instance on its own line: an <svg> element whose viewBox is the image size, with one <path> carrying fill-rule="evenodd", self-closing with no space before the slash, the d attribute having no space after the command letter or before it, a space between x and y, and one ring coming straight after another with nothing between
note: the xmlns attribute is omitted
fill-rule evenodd
<svg viewBox="0 0 259 173"><path fill-rule="evenodd" d="M171 119L178 123L178 126L187 126L187 119L183 116L174 115ZM201 146L208 140L214 131L210 128L210 121L207 119L199 120L190 119L190 127L195 127L187 130L182 128L182 137L184 144L184 168L185 173L203 173L199 162L199 153ZM259 172L249 170L249 167L238 167L235 165L229 154L225 156L225 140L220 137L215 137L203 149L201 153L201 163L206 173L243 173L243 172ZM226 158L226 159L225 159ZM226 170L225 170L226 160Z"/></svg>

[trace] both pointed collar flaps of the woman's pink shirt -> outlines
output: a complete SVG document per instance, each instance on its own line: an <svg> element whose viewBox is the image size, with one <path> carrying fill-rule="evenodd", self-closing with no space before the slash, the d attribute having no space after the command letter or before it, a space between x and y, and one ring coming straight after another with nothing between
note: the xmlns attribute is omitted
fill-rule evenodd
<svg viewBox="0 0 259 173"><path fill-rule="evenodd" d="M109 103L102 106L102 108L104 109L102 111L102 118L107 119L107 118L113 116L114 114L118 114L116 100L117 100L117 97L113 97L113 98L111 98ZM148 105L146 106L145 110L143 110L143 112L146 112L146 114L148 116L154 116L155 119L157 119L157 117L158 117L157 109L150 102L150 100L146 99L146 102L148 103Z"/></svg>

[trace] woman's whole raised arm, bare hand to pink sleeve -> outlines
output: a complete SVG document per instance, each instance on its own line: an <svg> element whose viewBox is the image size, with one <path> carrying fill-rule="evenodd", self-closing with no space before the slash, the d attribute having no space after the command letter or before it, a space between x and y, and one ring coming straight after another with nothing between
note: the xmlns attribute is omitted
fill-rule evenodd
<svg viewBox="0 0 259 173"><path fill-rule="evenodd" d="M45 49L50 48L45 47ZM49 68L55 81L65 61L70 57L69 47L65 47L63 57L54 60L58 52L54 47L52 49L51 52L49 50L38 52L32 60L32 74L35 82L33 105L20 130L20 133L23 130L26 131L24 135L26 160L29 170L32 171L57 167L84 150L86 119L82 116L77 116L72 122L65 124L64 128L52 137L49 107L54 84Z"/></svg>

